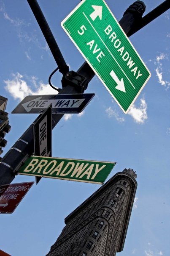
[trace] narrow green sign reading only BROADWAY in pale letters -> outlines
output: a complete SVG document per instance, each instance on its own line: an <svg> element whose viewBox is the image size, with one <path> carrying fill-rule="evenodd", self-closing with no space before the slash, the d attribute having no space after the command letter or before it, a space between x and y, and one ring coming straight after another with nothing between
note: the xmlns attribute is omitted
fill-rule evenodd
<svg viewBox="0 0 170 256"><path fill-rule="evenodd" d="M31 156L18 174L103 184L116 162Z"/></svg>

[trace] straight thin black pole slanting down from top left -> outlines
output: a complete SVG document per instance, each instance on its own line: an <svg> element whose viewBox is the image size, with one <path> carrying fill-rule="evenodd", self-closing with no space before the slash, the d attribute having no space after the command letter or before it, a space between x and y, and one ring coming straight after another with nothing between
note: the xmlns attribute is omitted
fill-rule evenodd
<svg viewBox="0 0 170 256"><path fill-rule="evenodd" d="M51 29L49 28L48 23L46 22L46 19L43 15L43 12L40 9L40 6L38 5L37 0L27 0L27 2L30 5L30 8L38 22L38 25L40 26L41 31L43 32L43 35L46 39L47 44L49 45L49 48L51 50L51 53L59 67L59 71L65 75L66 72L68 72L69 67L65 63L65 60L62 56L62 53L59 50L59 47L57 45L56 40L54 39L54 36L51 32Z"/></svg>

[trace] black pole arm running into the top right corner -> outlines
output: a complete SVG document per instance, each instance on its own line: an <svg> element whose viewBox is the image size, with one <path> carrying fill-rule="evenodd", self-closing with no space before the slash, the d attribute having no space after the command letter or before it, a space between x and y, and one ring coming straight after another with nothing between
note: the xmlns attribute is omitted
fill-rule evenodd
<svg viewBox="0 0 170 256"><path fill-rule="evenodd" d="M134 27L130 30L129 33L127 33L127 36L132 36L134 33L136 33L138 30L146 26L148 23L159 17L161 14L163 14L165 11L167 11L170 8L170 0L166 0L165 2L161 3L159 6L157 6L154 10L150 11L148 14L146 14L140 21L140 23L135 24Z"/></svg>

